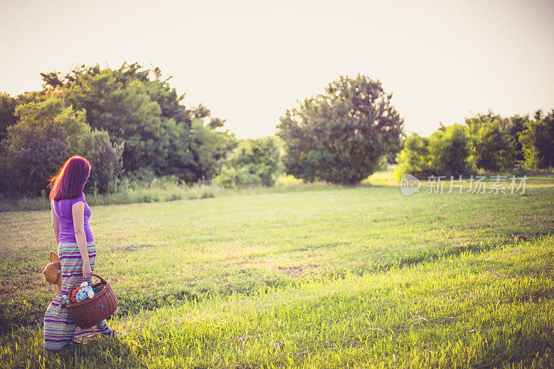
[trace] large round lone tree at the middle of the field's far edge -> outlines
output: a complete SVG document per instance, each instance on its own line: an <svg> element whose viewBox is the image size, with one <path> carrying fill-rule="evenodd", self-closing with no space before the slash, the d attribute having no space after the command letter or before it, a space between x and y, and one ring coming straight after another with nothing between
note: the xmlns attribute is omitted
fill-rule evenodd
<svg viewBox="0 0 554 369"><path fill-rule="evenodd" d="M368 177L379 158L400 143L404 120L381 82L339 77L280 118L288 174L352 184Z"/></svg>

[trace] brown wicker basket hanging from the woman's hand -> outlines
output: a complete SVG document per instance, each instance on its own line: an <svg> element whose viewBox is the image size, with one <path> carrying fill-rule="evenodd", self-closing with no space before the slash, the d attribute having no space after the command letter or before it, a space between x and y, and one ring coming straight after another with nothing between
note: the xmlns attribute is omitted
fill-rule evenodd
<svg viewBox="0 0 554 369"><path fill-rule="evenodd" d="M73 319L76 325L80 328L90 328L98 323L101 323L104 319L107 319L114 314L117 309L117 300L114 290L111 289L109 282L104 278L98 276L98 274L92 274L92 276L98 277L100 282L92 287L98 287L100 291L94 294L93 298L87 298L76 303L67 304L67 312ZM78 280L69 289L69 296Z"/></svg>

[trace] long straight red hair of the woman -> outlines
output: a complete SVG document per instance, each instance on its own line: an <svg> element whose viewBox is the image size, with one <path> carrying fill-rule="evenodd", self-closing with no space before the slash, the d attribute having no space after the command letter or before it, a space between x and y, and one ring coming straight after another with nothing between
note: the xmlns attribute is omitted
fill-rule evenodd
<svg viewBox="0 0 554 369"><path fill-rule="evenodd" d="M49 186L51 200L76 199L84 190L91 174L91 163L82 156L73 155L62 165L60 171L50 179Z"/></svg>

